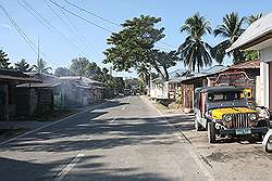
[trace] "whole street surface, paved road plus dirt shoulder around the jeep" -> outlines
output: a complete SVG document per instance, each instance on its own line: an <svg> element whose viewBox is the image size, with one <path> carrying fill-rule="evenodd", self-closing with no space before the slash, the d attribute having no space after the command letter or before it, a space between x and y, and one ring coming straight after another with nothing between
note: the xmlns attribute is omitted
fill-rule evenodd
<svg viewBox="0 0 272 181"><path fill-rule="evenodd" d="M271 180L260 142L209 144L193 115L108 101L0 145L1 180Z"/></svg>

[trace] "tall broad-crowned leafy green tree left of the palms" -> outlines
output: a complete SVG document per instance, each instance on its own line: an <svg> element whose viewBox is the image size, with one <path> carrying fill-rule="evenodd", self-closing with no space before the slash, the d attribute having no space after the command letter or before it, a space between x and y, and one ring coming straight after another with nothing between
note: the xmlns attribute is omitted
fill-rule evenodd
<svg viewBox="0 0 272 181"><path fill-rule="evenodd" d="M145 15L125 21L123 29L113 33L107 40L111 48L104 51L104 63L111 63L118 72L151 66L162 78L168 79L166 68L162 68L162 64L157 61L159 50L153 48L165 36L163 27L156 27L159 22L160 17Z"/></svg>

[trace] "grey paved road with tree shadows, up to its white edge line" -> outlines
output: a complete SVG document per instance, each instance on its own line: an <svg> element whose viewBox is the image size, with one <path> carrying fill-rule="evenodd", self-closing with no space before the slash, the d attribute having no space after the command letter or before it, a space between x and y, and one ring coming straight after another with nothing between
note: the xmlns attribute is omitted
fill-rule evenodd
<svg viewBox="0 0 272 181"><path fill-rule="evenodd" d="M0 145L0 180L208 180L188 142L139 96Z"/></svg>

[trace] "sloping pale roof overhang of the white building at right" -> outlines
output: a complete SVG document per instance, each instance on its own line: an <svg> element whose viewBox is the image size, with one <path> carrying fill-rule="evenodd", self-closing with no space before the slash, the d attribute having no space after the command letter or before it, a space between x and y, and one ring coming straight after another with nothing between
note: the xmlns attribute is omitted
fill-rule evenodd
<svg viewBox="0 0 272 181"><path fill-rule="evenodd" d="M235 49L259 50L272 46L272 13L252 23L240 37L226 50ZM269 41L269 42L268 42Z"/></svg>

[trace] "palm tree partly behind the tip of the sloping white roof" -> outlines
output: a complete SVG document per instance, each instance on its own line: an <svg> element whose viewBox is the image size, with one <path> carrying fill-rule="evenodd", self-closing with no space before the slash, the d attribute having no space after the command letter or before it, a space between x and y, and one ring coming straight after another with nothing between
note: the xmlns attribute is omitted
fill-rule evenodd
<svg viewBox="0 0 272 181"><path fill-rule="evenodd" d="M245 22L246 17L239 17L237 13L230 13L223 17L223 24L219 25L217 29L214 29L214 37L221 36L225 38L224 41L220 42L215 46L212 51L211 55L215 61L222 64L224 56L226 55L225 50L230 48L235 40L244 33L243 23ZM230 56L231 53L227 53ZM244 62L244 53L239 50L234 50L232 52L233 55L233 63L238 64Z"/></svg>

